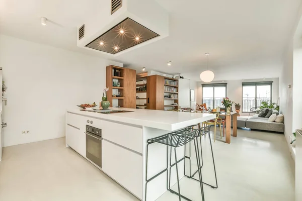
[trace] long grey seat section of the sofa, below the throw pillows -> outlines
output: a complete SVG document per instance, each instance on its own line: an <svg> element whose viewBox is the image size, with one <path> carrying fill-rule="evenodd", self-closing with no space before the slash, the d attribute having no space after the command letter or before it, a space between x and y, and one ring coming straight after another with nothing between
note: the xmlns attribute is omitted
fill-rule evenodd
<svg viewBox="0 0 302 201"><path fill-rule="evenodd" d="M277 122L268 122L267 118L250 118L246 121L246 128L263 131L284 132L284 124Z"/></svg>

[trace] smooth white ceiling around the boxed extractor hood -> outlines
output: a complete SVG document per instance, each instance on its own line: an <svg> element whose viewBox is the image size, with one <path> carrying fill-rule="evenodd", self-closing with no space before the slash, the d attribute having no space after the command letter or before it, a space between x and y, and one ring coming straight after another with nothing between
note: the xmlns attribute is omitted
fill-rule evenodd
<svg viewBox="0 0 302 201"><path fill-rule="evenodd" d="M110 0L0 0L0 33L104 57L77 47L77 26ZM154 1L154 0L149 0ZM199 80L209 52L214 80L278 77L300 0L155 0L170 13L170 36L118 57L138 71ZM188 3L190 2L190 3ZM50 20L41 26L40 18ZM0 44L1 45L1 44ZM173 65L168 66L167 62Z"/></svg>

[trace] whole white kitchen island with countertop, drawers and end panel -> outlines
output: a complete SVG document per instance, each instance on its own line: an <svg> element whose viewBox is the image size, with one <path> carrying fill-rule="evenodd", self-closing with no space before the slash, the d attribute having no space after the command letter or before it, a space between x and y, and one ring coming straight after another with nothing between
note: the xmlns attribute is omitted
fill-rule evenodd
<svg viewBox="0 0 302 201"><path fill-rule="evenodd" d="M130 112L100 114L76 108L68 109L66 147L71 147L141 200L144 200L145 193L147 139L215 118L214 114L111 109ZM97 149L96 143L87 141L87 126L101 129L101 137L94 137L100 140L100 150ZM101 165L89 159L89 149L92 150L91 153L95 152L95 155L99 151ZM177 152L179 159L184 157L184 147L179 148ZM167 147L157 143L149 146L147 178L165 169L166 165ZM183 177L184 161L179 163L179 167L180 177ZM175 184L175 169L172 168L171 171L172 176L175 175L171 176L171 183ZM167 191L166 179L166 174L162 174L148 183L148 201L156 200Z"/></svg>

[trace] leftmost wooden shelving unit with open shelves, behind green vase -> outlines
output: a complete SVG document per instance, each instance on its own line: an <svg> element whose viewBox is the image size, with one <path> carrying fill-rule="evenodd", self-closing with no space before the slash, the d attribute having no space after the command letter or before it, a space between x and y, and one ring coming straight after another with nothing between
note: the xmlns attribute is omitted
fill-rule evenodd
<svg viewBox="0 0 302 201"><path fill-rule="evenodd" d="M119 71L119 76L114 75L114 72ZM110 107L113 106L113 100L121 108L135 108L135 77L136 71L130 68L119 66L106 67L106 86L107 100L110 102ZM119 82L119 86L113 86L113 82ZM120 93L120 97L113 97L113 94Z"/></svg>

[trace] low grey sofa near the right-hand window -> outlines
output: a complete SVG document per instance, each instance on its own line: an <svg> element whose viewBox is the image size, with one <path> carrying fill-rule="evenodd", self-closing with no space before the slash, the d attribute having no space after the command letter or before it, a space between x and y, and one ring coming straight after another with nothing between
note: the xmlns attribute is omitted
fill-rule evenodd
<svg viewBox="0 0 302 201"><path fill-rule="evenodd" d="M278 111L273 111L273 114L278 115ZM232 120L233 126L233 120ZM268 118L258 117L258 114L254 115L251 118L238 117L237 118L237 127L248 128L255 130L263 131L273 131L273 132L284 132L284 123L277 122L268 122Z"/></svg>

